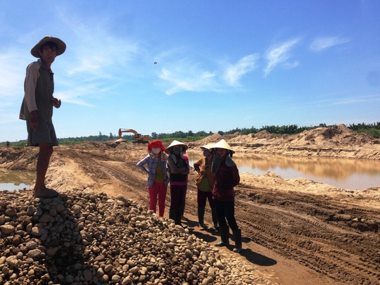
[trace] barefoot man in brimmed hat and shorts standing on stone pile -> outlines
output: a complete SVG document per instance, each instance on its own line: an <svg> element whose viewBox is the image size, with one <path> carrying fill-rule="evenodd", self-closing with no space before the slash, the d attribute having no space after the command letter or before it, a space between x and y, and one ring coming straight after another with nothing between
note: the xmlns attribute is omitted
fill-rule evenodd
<svg viewBox="0 0 380 285"><path fill-rule="evenodd" d="M66 44L56 37L46 36L36 44L30 53L38 61L27 66L24 82L24 99L20 119L27 122L27 145L39 146L37 179L33 196L55 198L59 193L45 186L46 171L49 167L53 146L58 146L53 122L53 106L61 107L61 100L53 97L54 80L51 63L56 56L65 52Z"/></svg>

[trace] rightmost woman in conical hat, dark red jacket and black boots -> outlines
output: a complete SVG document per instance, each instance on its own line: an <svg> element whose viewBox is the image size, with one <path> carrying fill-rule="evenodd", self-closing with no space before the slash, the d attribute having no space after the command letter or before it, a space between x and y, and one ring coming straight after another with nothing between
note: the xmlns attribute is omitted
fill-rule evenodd
<svg viewBox="0 0 380 285"><path fill-rule="evenodd" d="M229 245L229 228L231 228L235 239L234 252L239 253L241 251L241 229L239 229L235 219L234 186L239 184L240 176L239 170L232 160L234 150L224 139L218 141L211 148L214 150L211 171L215 173L213 199L215 200L221 237L221 241L215 243L215 246Z"/></svg>

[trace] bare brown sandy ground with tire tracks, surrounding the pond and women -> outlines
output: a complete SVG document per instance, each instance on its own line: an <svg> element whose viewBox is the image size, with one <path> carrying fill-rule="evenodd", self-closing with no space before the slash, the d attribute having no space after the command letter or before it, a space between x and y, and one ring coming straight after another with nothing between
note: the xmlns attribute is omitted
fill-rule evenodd
<svg viewBox="0 0 380 285"><path fill-rule="evenodd" d="M220 140L219 134L189 143L188 153ZM296 136L267 132L224 136L235 156L319 156L379 159L379 140L355 134L344 125ZM46 182L58 191L92 189L122 194L148 205L146 175L135 167L146 155L144 144L87 142L54 148ZM37 148L0 148L0 167L35 171ZM196 172L189 175L184 222L209 242L219 234L197 226ZM0 194L1 195L1 194ZM167 195L167 217L170 191ZM272 284L380 284L380 187L356 191L310 179L284 179L275 173L241 173L236 187L236 219L243 252L258 275ZM211 225L210 210L205 220ZM233 242L232 242L233 244ZM232 252L231 248L225 248Z"/></svg>

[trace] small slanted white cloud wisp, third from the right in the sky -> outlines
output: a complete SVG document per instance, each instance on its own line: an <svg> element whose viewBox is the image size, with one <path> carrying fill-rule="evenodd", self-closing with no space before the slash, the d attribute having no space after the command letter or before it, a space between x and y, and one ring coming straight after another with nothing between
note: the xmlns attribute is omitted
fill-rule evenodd
<svg viewBox="0 0 380 285"><path fill-rule="evenodd" d="M258 54L251 54L241 58L236 64L230 65L224 74L224 80L230 85L239 85L239 80L243 75L255 70L258 58Z"/></svg>

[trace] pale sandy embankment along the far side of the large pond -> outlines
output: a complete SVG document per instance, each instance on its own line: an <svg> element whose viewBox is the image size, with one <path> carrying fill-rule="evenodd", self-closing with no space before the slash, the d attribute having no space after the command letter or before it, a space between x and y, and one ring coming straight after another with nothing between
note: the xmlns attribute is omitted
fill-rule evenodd
<svg viewBox="0 0 380 285"><path fill-rule="evenodd" d="M267 131L252 134L213 134L191 146L225 139L236 150L236 156L276 154L327 158L380 159L380 139L357 134L345 125L319 127L300 134L276 137Z"/></svg>

